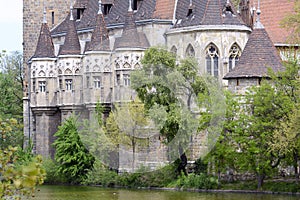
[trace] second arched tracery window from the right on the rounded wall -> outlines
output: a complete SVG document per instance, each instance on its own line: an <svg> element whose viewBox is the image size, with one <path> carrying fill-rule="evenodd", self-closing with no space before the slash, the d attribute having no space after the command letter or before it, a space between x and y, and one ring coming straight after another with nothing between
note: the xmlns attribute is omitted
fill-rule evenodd
<svg viewBox="0 0 300 200"><path fill-rule="evenodd" d="M219 51L214 44L206 48L206 72L215 77L219 76Z"/></svg>

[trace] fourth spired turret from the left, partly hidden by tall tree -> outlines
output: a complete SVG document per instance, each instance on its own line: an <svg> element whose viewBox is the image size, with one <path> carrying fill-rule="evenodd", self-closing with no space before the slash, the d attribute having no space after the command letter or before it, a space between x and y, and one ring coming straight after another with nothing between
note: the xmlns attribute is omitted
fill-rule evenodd
<svg viewBox="0 0 300 200"><path fill-rule="evenodd" d="M114 44L114 101L119 102L134 99L134 92L130 88L130 71L140 67L140 59L143 56L143 52L149 46L146 35L137 31L131 0L129 0L122 35L116 38Z"/></svg>

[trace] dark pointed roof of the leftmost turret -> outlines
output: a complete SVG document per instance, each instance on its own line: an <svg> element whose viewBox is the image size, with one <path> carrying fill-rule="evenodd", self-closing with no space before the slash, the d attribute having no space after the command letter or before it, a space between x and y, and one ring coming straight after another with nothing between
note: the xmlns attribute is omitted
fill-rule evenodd
<svg viewBox="0 0 300 200"><path fill-rule="evenodd" d="M54 45L47 23L42 23L40 36L32 58L54 58Z"/></svg>

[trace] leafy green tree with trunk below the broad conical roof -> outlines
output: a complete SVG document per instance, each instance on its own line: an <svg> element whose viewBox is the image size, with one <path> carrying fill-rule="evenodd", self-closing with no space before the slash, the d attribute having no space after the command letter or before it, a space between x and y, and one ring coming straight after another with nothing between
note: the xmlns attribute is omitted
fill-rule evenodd
<svg viewBox="0 0 300 200"><path fill-rule="evenodd" d="M277 91L270 81L262 81L260 87L253 87L245 97L242 113L238 115L235 138L240 147L239 165L256 174L258 189L265 177L272 175L282 157L270 150L270 141L278 130L278 122L289 111L289 99Z"/></svg>

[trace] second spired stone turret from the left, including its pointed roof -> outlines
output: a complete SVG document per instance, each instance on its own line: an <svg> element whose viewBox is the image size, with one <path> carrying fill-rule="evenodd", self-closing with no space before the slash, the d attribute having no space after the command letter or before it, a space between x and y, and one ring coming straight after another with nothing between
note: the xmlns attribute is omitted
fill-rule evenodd
<svg viewBox="0 0 300 200"><path fill-rule="evenodd" d="M60 47L58 54L58 105L62 111L62 120L74 111L81 111L83 102L81 46L72 4L68 19L64 44Z"/></svg>

